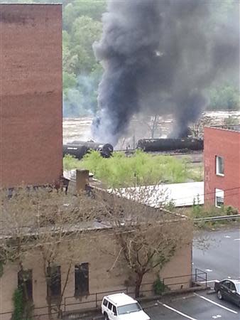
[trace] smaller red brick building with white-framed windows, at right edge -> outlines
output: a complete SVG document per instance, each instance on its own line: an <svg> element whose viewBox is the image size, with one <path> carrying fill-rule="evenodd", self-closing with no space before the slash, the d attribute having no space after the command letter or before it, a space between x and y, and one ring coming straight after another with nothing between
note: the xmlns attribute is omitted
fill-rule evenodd
<svg viewBox="0 0 240 320"><path fill-rule="evenodd" d="M240 124L204 128L204 203L240 211Z"/></svg>

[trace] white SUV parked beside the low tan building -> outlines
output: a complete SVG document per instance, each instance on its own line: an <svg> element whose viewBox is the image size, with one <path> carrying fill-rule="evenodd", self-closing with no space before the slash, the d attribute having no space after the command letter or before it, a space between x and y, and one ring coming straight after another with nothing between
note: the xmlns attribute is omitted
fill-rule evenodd
<svg viewBox="0 0 240 320"><path fill-rule="evenodd" d="M140 304L124 293L104 297L102 314L105 320L150 320Z"/></svg>

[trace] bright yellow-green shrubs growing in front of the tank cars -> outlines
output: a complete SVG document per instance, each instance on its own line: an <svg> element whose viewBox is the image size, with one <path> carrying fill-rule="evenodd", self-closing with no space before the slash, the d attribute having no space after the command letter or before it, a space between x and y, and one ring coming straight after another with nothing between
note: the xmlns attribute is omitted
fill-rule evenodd
<svg viewBox="0 0 240 320"><path fill-rule="evenodd" d="M139 150L131 157L114 152L109 159L104 159L99 152L92 151L81 161L72 156L65 156L63 164L67 170L88 169L109 188L180 183L187 181L189 174L185 159L153 156Z"/></svg>

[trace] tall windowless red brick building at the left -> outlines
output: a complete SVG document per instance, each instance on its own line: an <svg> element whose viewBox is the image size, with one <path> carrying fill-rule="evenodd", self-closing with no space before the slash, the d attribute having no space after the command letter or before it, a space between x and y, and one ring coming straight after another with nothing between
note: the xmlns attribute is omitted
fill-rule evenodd
<svg viewBox="0 0 240 320"><path fill-rule="evenodd" d="M62 7L0 4L0 186L62 174Z"/></svg>

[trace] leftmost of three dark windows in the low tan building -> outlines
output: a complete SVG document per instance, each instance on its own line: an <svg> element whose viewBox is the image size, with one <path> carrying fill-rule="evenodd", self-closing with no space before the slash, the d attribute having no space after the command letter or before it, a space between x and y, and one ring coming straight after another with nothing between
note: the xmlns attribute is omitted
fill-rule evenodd
<svg viewBox="0 0 240 320"><path fill-rule="evenodd" d="M23 292L24 301L33 300L33 272L21 270L18 272L18 288Z"/></svg>

